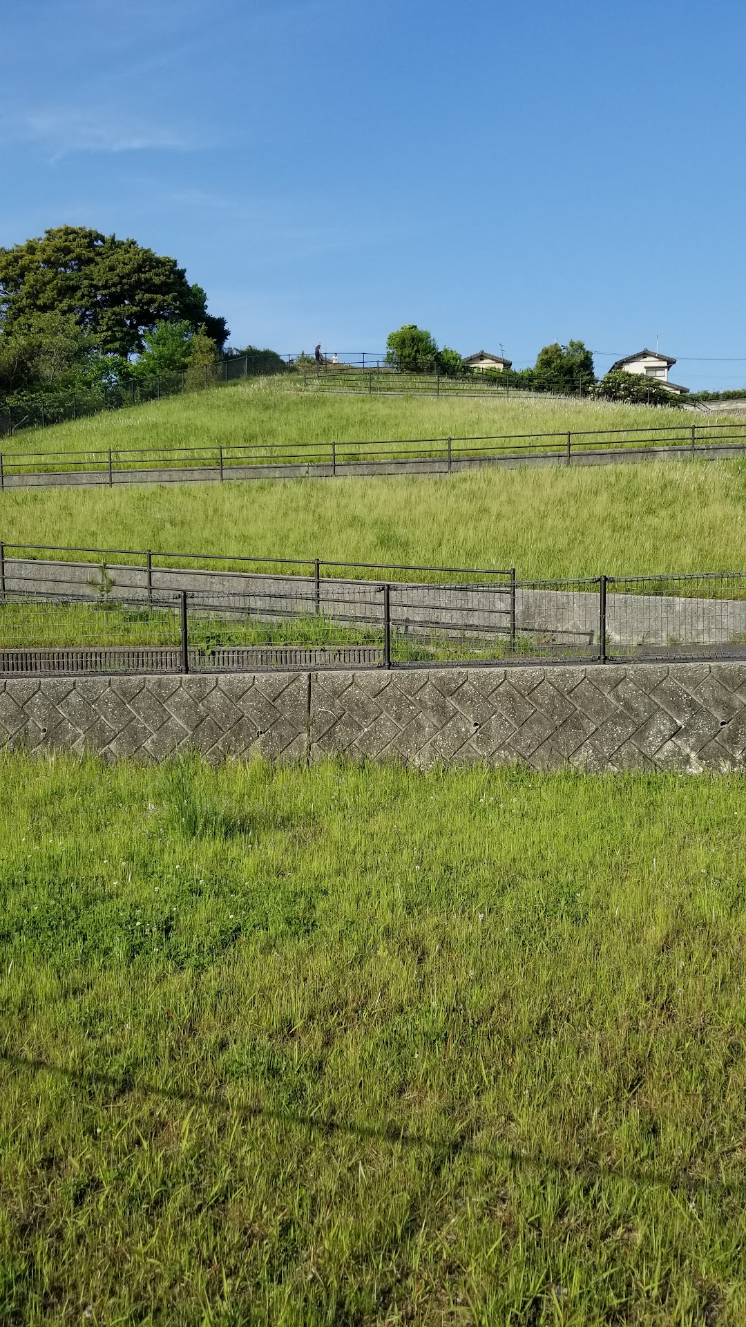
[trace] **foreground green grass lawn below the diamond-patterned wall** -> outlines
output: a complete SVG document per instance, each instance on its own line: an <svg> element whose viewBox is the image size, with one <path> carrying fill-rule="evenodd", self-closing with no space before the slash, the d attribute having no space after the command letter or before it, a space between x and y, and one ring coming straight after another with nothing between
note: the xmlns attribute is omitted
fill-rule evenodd
<svg viewBox="0 0 746 1327"><path fill-rule="evenodd" d="M739 778L0 779L0 1320L746 1320Z"/></svg>

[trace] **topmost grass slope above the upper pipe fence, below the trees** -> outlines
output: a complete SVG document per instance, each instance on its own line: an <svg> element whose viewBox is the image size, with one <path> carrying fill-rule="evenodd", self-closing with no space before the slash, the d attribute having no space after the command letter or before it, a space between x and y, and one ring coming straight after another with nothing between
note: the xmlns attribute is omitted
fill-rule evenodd
<svg viewBox="0 0 746 1327"><path fill-rule="evenodd" d="M277 380L196 391L52 429L20 430L3 451L94 451L109 447L244 446L354 442L483 434L685 427L681 410L565 398L317 395ZM698 421L701 422L701 421Z"/></svg>

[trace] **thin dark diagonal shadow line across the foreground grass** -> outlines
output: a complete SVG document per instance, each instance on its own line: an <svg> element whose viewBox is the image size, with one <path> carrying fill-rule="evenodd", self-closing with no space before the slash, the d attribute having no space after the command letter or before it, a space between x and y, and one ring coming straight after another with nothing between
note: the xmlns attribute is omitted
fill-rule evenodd
<svg viewBox="0 0 746 1327"><path fill-rule="evenodd" d="M413 1151L423 1149L434 1156L442 1157L443 1160L451 1160L459 1156L486 1157L492 1161L503 1161L515 1170L534 1172L536 1174L551 1173L552 1176L568 1181L581 1180L588 1185L593 1185L599 1180L612 1180L649 1188L666 1188L674 1193L696 1193L704 1189L714 1189L723 1196L741 1196L746 1190L746 1177L729 1180L723 1177L722 1173L696 1174L686 1169L657 1173L649 1166L611 1166L601 1165L588 1158L584 1158L583 1162L573 1164L569 1161L559 1161L556 1157L543 1156L538 1152L530 1153L508 1145L482 1144L474 1143L469 1139L429 1139L425 1135L414 1133L410 1129L397 1128L396 1125L385 1123L353 1124L337 1119L323 1119L317 1115L307 1115L300 1111L272 1111L261 1105L240 1105L231 1103L224 1096L214 1092L185 1092L178 1088L157 1087L153 1083L135 1083L131 1079L121 1079L113 1074L104 1074L100 1071L92 1074L76 1074L73 1070L62 1068L60 1064L52 1064L48 1060L41 1059L32 1059L31 1056L17 1055L12 1051L0 1048L0 1064L3 1063L11 1068L31 1074L53 1074L57 1078L65 1079L68 1083L86 1088L88 1091L90 1091L90 1088L112 1088L114 1091L114 1099L131 1092L145 1097L178 1101L179 1104L190 1107L219 1109L226 1113L238 1115L244 1120L265 1120L272 1124L292 1125L323 1137L352 1137L377 1143L389 1143L394 1147L410 1148ZM714 1157L715 1164L722 1165L722 1162L726 1161L734 1151L735 1149L725 1149L725 1152L719 1152Z"/></svg>

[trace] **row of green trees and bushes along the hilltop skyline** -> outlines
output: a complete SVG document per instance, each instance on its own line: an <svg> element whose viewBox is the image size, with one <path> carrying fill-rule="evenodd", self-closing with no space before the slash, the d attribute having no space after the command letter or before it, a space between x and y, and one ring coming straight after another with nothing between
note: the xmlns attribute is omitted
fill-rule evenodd
<svg viewBox="0 0 746 1327"><path fill-rule="evenodd" d="M0 248L0 401L86 391L102 398L135 397L138 382L165 374L204 381L210 366L246 356L248 376L313 366L301 353L289 364L275 350L227 346L223 317L207 312L207 295L190 284L175 259L133 239L119 240L84 226L60 226L12 248ZM406 373L466 378L473 368L458 350L408 322L386 341L386 361ZM329 368L328 361L324 362ZM543 346L531 368L479 370L502 385L561 395L677 406L665 386L641 374L612 370L600 381L583 341ZM227 376L226 376L227 377ZM743 395L746 393L729 393ZM718 399L700 393L697 399Z"/></svg>

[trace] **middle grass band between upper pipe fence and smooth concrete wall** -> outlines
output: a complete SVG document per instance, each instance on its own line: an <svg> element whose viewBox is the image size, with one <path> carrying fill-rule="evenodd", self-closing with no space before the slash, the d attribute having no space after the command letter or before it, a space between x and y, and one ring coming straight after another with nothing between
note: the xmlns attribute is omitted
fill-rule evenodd
<svg viewBox="0 0 746 1327"><path fill-rule="evenodd" d="M7 490L0 540L515 567L524 577L741 571L746 462Z"/></svg>

